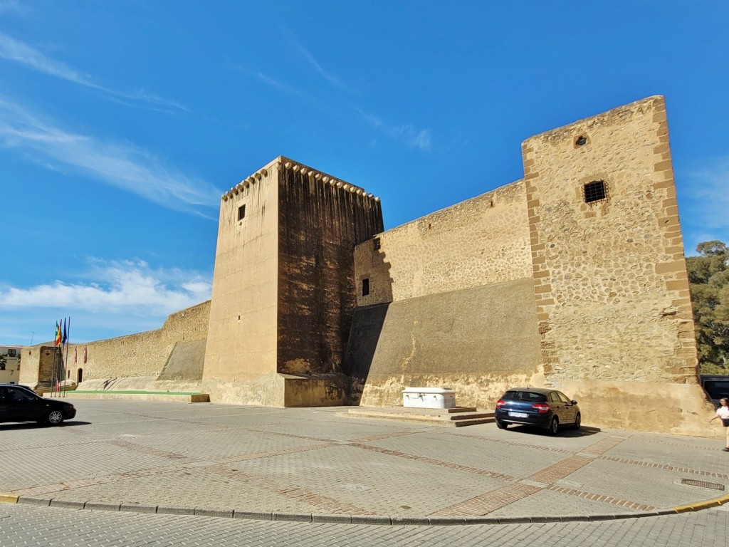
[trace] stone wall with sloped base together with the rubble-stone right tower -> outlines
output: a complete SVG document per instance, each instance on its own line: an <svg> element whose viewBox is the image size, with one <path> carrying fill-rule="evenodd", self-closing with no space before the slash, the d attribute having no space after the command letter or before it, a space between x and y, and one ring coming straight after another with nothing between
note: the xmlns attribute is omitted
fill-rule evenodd
<svg viewBox="0 0 729 547"><path fill-rule="evenodd" d="M663 97L526 139L523 161L357 247L353 400L443 385L489 407L550 386L592 423L706 429Z"/></svg>

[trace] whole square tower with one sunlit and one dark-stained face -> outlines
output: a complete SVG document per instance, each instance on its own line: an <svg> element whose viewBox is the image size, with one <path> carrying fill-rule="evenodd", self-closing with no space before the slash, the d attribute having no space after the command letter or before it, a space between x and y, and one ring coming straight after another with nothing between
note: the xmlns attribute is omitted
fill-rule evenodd
<svg viewBox="0 0 729 547"><path fill-rule="evenodd" d="M222 196L203 387L265 406L346 401L354 246L379 198L278 157Z"/></svg>

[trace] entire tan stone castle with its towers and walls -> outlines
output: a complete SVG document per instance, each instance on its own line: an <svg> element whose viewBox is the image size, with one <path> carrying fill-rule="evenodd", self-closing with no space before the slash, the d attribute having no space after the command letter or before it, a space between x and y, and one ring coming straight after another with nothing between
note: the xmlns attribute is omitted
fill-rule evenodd
<svg viewBox="0 0 729 547"><path fill-rule="evenodd" d="M84 383L280 407L445 386L479 408L529 384L589 424L706 427L663 97L522 154L523 179L386 231L375 196L276 158L222 196L211 300L87 344ZM20 381L43 381L27 351Z"/></svg>

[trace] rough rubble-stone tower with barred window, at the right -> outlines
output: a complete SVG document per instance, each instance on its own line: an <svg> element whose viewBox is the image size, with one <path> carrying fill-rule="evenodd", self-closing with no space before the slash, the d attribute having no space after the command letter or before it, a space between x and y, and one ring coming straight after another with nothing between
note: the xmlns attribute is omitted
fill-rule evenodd
<svg viewBox="0 0 729 547"><path fill-rule="evenodd" d="M704 400L663 98L531 137L523 155L546 383L613 427L634 419L636 384L647 408L673 384L652 425L685 427ZM586 203L595 181L606 198Z"/></svg>

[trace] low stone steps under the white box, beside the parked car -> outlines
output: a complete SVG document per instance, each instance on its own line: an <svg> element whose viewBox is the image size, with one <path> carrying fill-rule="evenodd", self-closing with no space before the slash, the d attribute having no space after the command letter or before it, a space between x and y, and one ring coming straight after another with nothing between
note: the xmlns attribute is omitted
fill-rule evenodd
<svg viewBox="0 0 729 547"><path fill-rule="evenodd" d="M456 408L406 408L403 406L375 407L358 406L350 408L342 416L351 418L376 418L426 422L434 425L463 427L465 425L489 424L495 422L494 413L479 411L473 406Z"/></svg>

